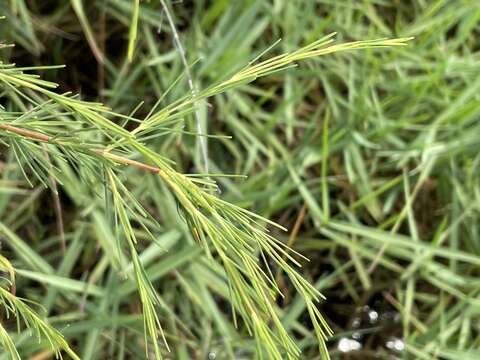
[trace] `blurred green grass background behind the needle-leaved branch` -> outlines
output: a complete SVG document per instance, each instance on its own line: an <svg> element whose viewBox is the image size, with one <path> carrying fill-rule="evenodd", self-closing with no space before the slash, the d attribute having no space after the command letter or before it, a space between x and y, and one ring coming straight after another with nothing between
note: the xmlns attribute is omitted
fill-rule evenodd
<svg viewBox="0 0 480 360"><path fill-rule="evenodd" d="M65 64L42 77L145 116L185 71L161 4L0 1L4 60ZM308 60L197 104L222 198L289 228L275 236L307 256L301 273L327 298L332 358L478 359L480 282L480 4L476 1L183 1L169 3L195 86L240 70L275 43L292 51L331 32L337 41L415 36L407 47ZM168 93L188 91L185 77ZM195 132L192 116L185 129ZM184 173L202 168L194 136L167 133L155 150ZM60 189L66 252L52 193L2 155L2 254L17 294L41 303L82 359L144 358L135 285L116 276L115 233L82 182ZM253 340L231 319L221 269L208 262L170 191L129 168L128 187L160 222L164 248L141 242L149 278L168 305L161 321L174 359L250 359ZM137 237L146 239L139 227ZM15 251L11 244L26 244ZM40 271L38 264L48 271ZM302 301L280 270L285 328L302 358L319 358ZM2 320L3 321L3 320ZM14 329L14 321L8 321ZM26 358L45 344L13 332ZM230 344L230 345L226 345ZM232 347L233 350L228 348ZM345 352L348 349L354 351ZM36 357L35 357L36 356ZM0 356L2 358L2 356Z"/></svg>

